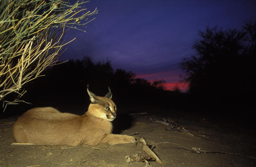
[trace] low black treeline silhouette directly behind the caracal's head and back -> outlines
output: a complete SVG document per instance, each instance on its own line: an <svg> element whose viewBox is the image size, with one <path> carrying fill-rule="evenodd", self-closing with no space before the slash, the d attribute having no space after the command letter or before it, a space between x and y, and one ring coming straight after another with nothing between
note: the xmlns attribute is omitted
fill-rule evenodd
<svg viewBox="0 0 256 167"><path fill-rule="evenodd" d="M27 93L23 96L23 100L33 105L9 105L5 114L20 115L27 109L43 106L52 106L62 112L83 114L90 103L87 84L98 96L104 96L109 86L113 101L118 105L118 112L123 113L138 111L137 108L143 106L178 106L182 103L182 96L186 96L185 93L164 90L164 80L156 80L151 84L148 80L135 78L135 73L131 71L114 71L110 61L94 63L89 57L62 62L47 68L43 74L45 76L27 85ZM20 109L21 106L24 109Z"/></svg>

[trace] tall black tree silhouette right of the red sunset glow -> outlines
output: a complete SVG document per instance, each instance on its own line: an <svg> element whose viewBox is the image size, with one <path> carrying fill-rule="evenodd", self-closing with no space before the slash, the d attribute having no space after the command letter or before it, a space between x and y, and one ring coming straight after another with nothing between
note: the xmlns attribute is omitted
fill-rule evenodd
<svg viewBox="0 0 256 167"><path fill-rule="evenodd" d="M245 22L242 31L207 27L199 37L192 47L196 55L180 63L193 99L203 103L252 102L256 22Z"/></svg>

